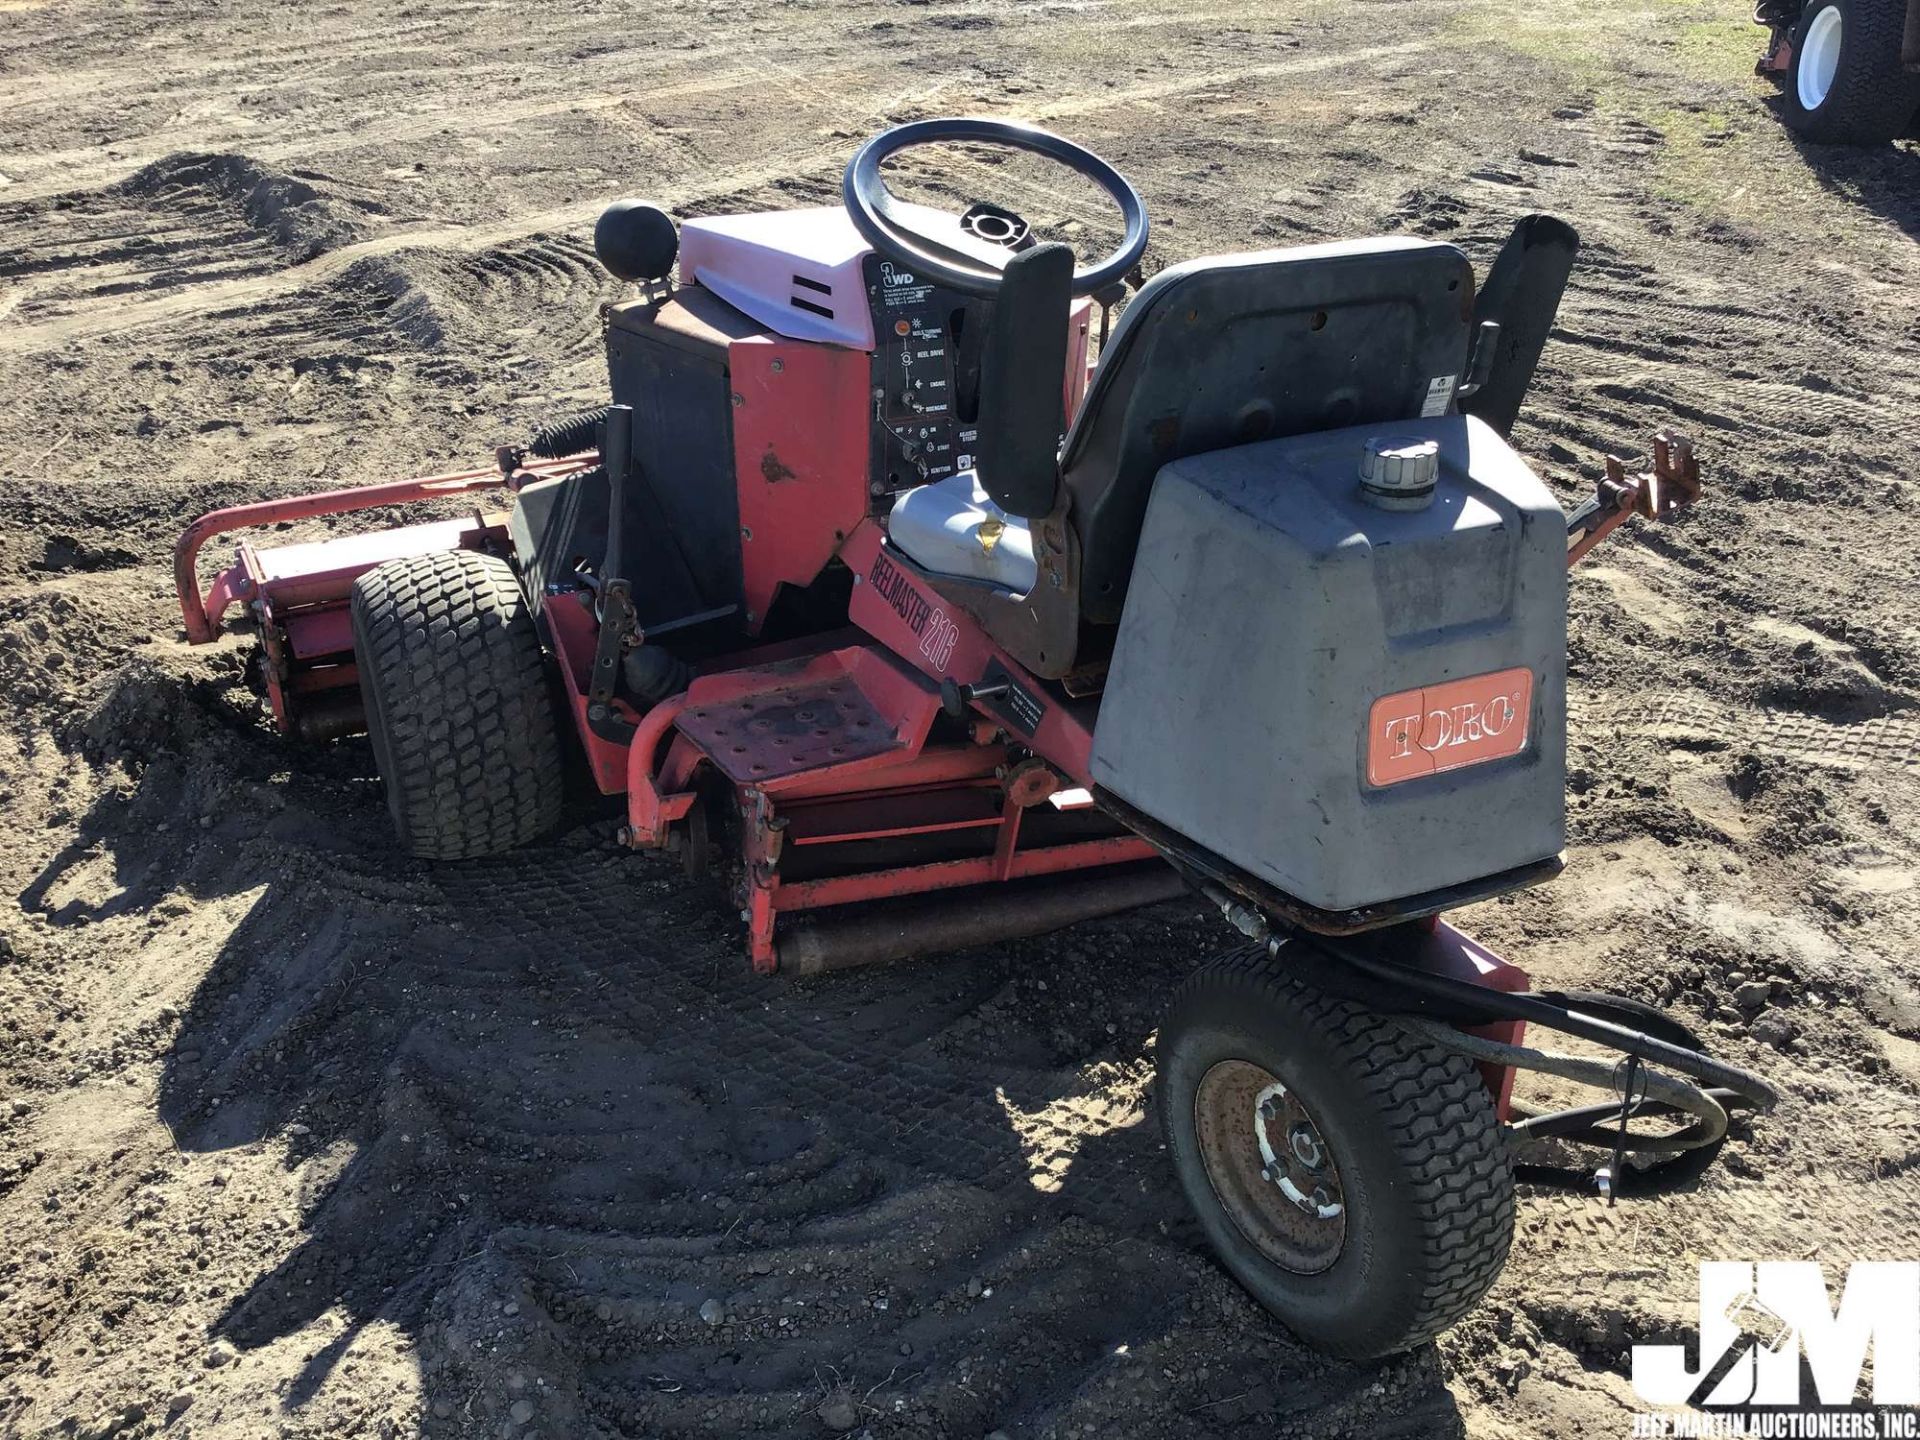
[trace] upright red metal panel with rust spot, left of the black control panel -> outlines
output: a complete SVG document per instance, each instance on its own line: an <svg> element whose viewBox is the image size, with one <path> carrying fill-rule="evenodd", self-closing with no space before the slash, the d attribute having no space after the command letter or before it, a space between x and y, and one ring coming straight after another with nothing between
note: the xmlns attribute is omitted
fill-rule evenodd
<svg viewBox="0 0 1920 1440"><path fill-rule="evenodd" d="M760 334L728 348L747 628L806 586L866 516L868 355Z"/></svg>

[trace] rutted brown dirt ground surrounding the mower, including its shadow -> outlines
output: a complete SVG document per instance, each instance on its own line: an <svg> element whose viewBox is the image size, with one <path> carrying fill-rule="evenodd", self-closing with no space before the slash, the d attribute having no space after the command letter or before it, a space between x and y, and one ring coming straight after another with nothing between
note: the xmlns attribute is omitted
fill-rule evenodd
<svg viewBox="0 0 1920 1440"><path fill-rule="evenodd" d="M1920 152L1797 148L1743 0L0 0L0 1434L1624 1434L1703 1258L1920 1246ZM1438 1346L1338 1365L1152 1117L1196 908L824 983L584 804L397 858L365 741L182 643L215 505L599 396L589 246L1021 115L1152 263L1569 217L1517 432L1711 493L1572 588L1572 849L1463 924L1786 1094L1688 1194L1526 1188ZM1054 219L1071 219L1069 213Z"/></svg>

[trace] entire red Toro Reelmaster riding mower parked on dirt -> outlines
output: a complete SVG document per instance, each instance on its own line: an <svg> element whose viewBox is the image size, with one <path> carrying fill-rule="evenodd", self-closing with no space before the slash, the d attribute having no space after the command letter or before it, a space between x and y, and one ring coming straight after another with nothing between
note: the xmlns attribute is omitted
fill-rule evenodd
<svg viewBox="0 0 1920 1440"><path fill-rule="evenodd" d="M1004 205L900 202L881 161L927 142L1068 165L1119 248L1075 269ZM1507 445L1569 227L1523 221L1478 288L1409 238L1194 259L1135 280L1096 363L1146 213L1023 125L887 131L845 207L676 236L622 202L595 244L639 286L603 313L611 407L179 545L188 636L248 607L276 722L367 730L407 851L553 826L564 714L626 845L726 870L764 973L1198 891L1246 945L1160 1027L1167 1150L1233 1275L1346 1356L1494 1283L1517 1140L1599 1146L1611 1194L1772 1104L1657 1010L1532 993L1440 920L1561 870L1567 566L1697 490L1663 436L1569 516ZM213 534L478 492L505 513L196 578ZM1515 1069L1603 1096L1542 1114Z"/></svg>

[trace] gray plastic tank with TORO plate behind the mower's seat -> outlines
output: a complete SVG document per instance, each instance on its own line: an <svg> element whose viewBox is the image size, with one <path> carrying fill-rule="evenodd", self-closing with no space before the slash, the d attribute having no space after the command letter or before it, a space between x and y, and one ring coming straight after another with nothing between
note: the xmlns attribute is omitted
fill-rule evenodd
<svg viewBox="0 0 1920 1440"><path fill-rule="evenodd" d="M1430 503L1419 486L1390 490L1398 468L1361 488L1369 440L1415 455L1419 442L1438 445ZM1100 701L1092 776L1325 910L1557 854L1559 505L1494 430L1459 415L1167 465Z"/></svg>

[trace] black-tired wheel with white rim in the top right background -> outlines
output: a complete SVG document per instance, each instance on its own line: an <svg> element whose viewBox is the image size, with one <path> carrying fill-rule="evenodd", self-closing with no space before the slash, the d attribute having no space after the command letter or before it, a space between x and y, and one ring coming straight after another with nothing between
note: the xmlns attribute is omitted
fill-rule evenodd
<svg viewBox="0 0 1920 1440"><path fill-rule="evenodd" d="M1786 121L1822 144L1885 144L1920 109L1920 75L1901 67L1907 0L1811 0L1793 27Z"/></svg>

